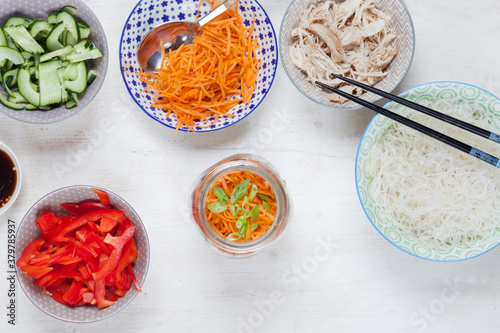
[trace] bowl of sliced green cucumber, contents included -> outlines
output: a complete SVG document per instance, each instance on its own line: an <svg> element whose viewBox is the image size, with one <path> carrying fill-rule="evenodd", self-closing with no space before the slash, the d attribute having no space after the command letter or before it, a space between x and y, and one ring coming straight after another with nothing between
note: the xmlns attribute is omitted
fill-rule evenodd
<svg viewBox="0 0 500 333"><path fill-rule="evenodd" d="M0 111L48 124L84 109L108 68L108 44L80 0L8 1L0 7Z"/></svg>

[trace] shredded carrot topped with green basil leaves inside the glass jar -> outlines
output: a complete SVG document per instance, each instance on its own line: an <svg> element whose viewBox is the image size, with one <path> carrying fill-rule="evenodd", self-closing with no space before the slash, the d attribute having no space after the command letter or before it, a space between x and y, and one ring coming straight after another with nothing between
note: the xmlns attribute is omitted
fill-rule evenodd
<svg viewBox="0 0 500 333"><path fill-rule="evenodd" d="M270 185L245 170L225 173L206 200L206 217L221 237L250 242L264 235L275 221L277 202Z"/></svg>

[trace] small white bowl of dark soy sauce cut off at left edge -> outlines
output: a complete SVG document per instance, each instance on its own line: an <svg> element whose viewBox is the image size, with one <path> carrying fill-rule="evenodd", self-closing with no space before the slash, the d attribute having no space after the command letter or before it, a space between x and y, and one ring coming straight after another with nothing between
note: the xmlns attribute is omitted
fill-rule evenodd
<svg viewBox="0 0 500 333"><path fill-rule="evenodd" d="M16 201L21 182L21 166L16 155L0 142L0 215Z"/></svg>

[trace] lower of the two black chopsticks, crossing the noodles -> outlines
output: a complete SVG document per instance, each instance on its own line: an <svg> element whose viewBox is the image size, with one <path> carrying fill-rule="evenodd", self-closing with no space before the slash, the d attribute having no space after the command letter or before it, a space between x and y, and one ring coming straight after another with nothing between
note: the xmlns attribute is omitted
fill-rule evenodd
<svg viewBox="0 0 500 333"><path fill-rule="evenodd" d="M359 97L356 97L356 96L353 96L353 95L350 95L346 92L343 92L342 90L339 90L339 89L336 89L336 88L333 88L333 87L330 87L329 85L326 85L324 83L321 83L319 81L316 81L316 84L325 88L325 89L328 89L330 91L333 91L334 93L336 94L339 94L340 96L342 97L345 97L347 99L350 99L351 101L353 102L356 102L364 107L367 107L368 109L370 110L373 110L377 113L380 113L384 116L386 116L387 118L390 118L394 121L397 121L403 125L406 125L410 128L413 128L414 130L417 130L419 131L420 133L423 133L423 134L426 134L436 140L439 140L447 145L450 145L451 147L453 148L456 148L466 154L469 154L471 156L474 156L478 159L480 159L481 161L483 162L486 162L488 164L491 164L493 166L496 166L497 168L500 168L500 159L498 157L495 157L495 156L492 156L484 151L481 151L479 149L476 149L472 146L469 146L468 144L466 143L463 143L461 141L458 141L452 137L449 137L443 133L440 133L438 131L435 131L427 126L424 126L422 124L419 124L411 119L408 119L408 118L405 118L397 113L394 113L392 111L389 111L387 109L384 109L378 105L375 105L375 104L372 104L370 102L367 102Z"/></svg>

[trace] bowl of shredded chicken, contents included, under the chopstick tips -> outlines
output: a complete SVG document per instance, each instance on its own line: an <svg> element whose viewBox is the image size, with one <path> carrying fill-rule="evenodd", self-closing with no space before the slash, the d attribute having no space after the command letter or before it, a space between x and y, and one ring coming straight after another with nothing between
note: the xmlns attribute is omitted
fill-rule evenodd
<svg viewBox="0 0 500 333"><path fill-rule="evenodd" d="M399 0L294 0L280 32L290 80L309 99L336 109L360 106L314 82L376 102L379 96L331 74L390 92L408 72L414 45L413 23Z"/></svg>

